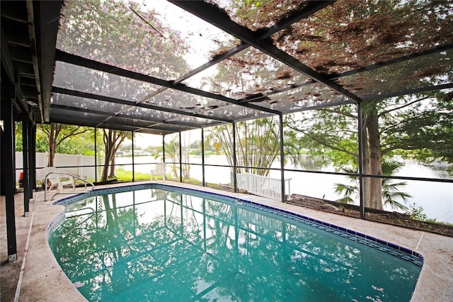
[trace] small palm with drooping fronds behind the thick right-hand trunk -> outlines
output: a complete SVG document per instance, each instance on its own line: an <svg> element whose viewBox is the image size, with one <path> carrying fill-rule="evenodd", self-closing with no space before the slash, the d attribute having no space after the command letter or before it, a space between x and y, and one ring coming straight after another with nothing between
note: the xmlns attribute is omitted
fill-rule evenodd
<svg viewBox="0 0 453 302"><path fill-rule="evenodd" d="M403 167L402 162L396 160L383 160L382 161L382 174L392 175ZM357 174L357 170L353 168L343 168L343 172L349 174ZM354 198L359 196L359 179L356 176L350 176L350 185L347 184L335 184L336 194L343 194L343 197L338 201L343 203L352 203ZM384 206L390 206L393 210L399 209L407 211L408 207L404 203L408 202L408 199L412 196L410 194L400 191L401 186L406 186L406 182L393 182L392 179L382 179L382 203ZM354 198L353 198L354 197Z"/></svg>

